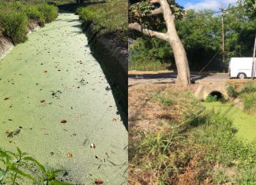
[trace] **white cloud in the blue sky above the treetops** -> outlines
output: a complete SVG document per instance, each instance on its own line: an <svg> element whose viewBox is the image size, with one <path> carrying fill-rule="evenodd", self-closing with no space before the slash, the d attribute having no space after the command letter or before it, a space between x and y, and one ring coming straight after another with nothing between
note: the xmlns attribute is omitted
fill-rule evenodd
<svg viewBox="0 0 256 185"><path fill-rule="evenodd" d="M229 4L236 3L237 0L203 0L198 3L186 3L185 9L220 9L221 6L227 7Z"/></svg>

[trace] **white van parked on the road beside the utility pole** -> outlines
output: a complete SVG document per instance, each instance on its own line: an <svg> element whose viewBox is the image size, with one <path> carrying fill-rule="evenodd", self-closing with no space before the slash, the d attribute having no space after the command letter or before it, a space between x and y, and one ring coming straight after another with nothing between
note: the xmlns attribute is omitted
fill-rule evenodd
<svg viewBox="0 0 256 185"><path fill-rule="evenodd" d="M254 60L254 77L256 71L256 60ZM251 77L253 69L253 57L232 57L228 66L229 78L245 79Z"/></svg>

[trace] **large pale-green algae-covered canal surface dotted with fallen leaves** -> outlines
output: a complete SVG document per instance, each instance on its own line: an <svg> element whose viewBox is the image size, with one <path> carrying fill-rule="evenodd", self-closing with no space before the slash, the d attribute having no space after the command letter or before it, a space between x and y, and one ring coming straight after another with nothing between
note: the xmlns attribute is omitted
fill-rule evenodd
<svg viewBox="0 0 256 185"><path fill-rule="evenodd" d="M126 183L127 131L108 87L78 17L60 14L0 62L0 147L67 169L73 183Z"/></svg>

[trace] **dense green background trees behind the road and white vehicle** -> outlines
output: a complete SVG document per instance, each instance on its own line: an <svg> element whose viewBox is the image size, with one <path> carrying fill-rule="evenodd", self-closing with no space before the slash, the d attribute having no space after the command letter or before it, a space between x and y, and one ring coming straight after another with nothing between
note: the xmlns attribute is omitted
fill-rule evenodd
<svg viewBox="0 0 256 185"><path fill-rule="evenodd" d="M230 57L251 57L253 54L254 36L256 32L255 7L251 6L253 1L243 0L235 6L229 6L224 11L224 36L225 36L225 65L228 65ZM180 6L179 6L180 7ZM252 7L248 9L248 7ZM200 70L211 58L213 61L209 64L208 70L223 70L221 61L221 14L220 11L213 10L194 10L179 9L183 12L183 17L176 17L176 28L179 37L182 39L186 49L186 54L192 70ZM153 27L154 24L148 20L146 24ZM159 20L158 21L162 21ZM161 27L164 31L164 27ZM163 54L161 51L166 48L167 44L156 40L148 39L143 35L136 35L133 32L130 35L135 46L130 45L130 62L133 63L140 58L149 58L150 61L160 61L162 63L170 61L174 63L172 52ZM138 43L144 48L140 50ZM156 52L156 46L158 47ZM140 52L137 52L140 50ZM147 57L144 57L147 56ZM169 61L168 61L169 58ZM147 59L148 60L148 59ZM145 61L144 61L145 62Z"/></svg>

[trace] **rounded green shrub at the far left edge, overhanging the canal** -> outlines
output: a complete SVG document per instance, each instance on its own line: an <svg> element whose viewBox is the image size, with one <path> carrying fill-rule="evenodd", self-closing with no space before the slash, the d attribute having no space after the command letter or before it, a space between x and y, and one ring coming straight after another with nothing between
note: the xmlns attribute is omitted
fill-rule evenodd
<svg viewBox="0 0 256 185"><path fill-rule="evenodd" d="M0 24L3 27L3 34L9 37L14 44L22 43L27 39L28 17L24 13L1 12Z"/></svg>

